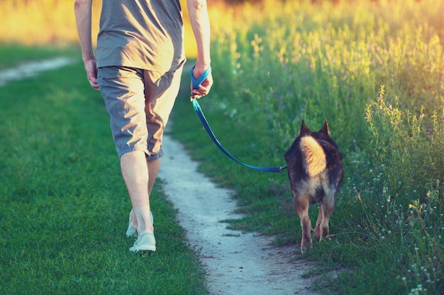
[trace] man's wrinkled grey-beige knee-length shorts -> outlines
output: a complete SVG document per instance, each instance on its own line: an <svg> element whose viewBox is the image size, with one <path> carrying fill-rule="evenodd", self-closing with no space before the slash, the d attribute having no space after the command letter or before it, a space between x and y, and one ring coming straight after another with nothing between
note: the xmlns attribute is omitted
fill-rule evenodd
<svg viewBox="0 0 444 295"><path fill-rule="evenodd" d="M99 68L99 88L119 157L131 151L144 151L152 161L163 156L163 131L181 75L182 66L166 73L124 66Z"/></svg>

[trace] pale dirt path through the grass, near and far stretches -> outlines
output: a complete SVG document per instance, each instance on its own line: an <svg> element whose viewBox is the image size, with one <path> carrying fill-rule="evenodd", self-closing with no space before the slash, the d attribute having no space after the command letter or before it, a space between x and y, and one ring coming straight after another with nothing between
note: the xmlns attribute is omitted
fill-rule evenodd
<svg viewBox="0 0 444 295"><path fill-rule="evenodd" d="M56 58L2 70L0 86L71 62ZM241 217L233 213L232 192L197 172L197 163L178 141L165 135L163 146L166 156L159 178L165 180L164 190L178 209L187 242L201 248L211 295L316 294L311 280L301 277L309 269L306 263L292 260L296 246L274 248L270 238L226 229L221 221Z"/></svg>

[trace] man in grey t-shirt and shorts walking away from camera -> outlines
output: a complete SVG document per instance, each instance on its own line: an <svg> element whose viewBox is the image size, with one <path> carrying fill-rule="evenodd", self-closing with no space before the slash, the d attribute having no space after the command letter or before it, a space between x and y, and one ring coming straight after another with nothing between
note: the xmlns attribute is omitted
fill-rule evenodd
<svg viewBox="0 0 444 295"><path fill-rule="evenodd" d="M96 54L91 41L93 0L75 0L74 11L87 78L101 91L130 195L127 236L131 251L155 251L150 192L162 157L162 134L179 91L184 30L179 0L103 0ZM210 66L206 0L187 0L197 47L193 76ZM211 74L192 96L209 93Z"/></svg>

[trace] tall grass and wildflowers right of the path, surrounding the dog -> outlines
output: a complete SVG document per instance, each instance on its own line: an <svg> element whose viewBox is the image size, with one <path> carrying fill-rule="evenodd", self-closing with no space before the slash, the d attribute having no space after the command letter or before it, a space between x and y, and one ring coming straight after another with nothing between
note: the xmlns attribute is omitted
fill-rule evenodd
<svg viewBox="0 0 444 295"><path fill-rule="evenodd" d="M304 255L316 273L340 270L318 279L319 291L443 294L442 1L264 5L224 14L229 29L213 26L215 84L201 107L216 137L245 163L280 166L302 119L312 129L328 119L345 178L331 241ZM248 214L231 226L299 248L287 175L226 158L189 102L177 104L174 137Z"/></svg>

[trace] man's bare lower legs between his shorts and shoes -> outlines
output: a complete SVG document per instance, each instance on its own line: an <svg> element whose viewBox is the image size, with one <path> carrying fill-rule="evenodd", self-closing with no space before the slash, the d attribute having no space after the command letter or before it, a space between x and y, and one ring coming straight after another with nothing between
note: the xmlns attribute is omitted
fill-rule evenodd
<svg viewBox="0 0 444 295"><path fill-rule="evenodd" d="M150 221L150 193L159 168L160 159L146 161L143 151L132 151L121 156L123 179L133 206L131 224L137 226L138 236L154 231Z"/></svg>

